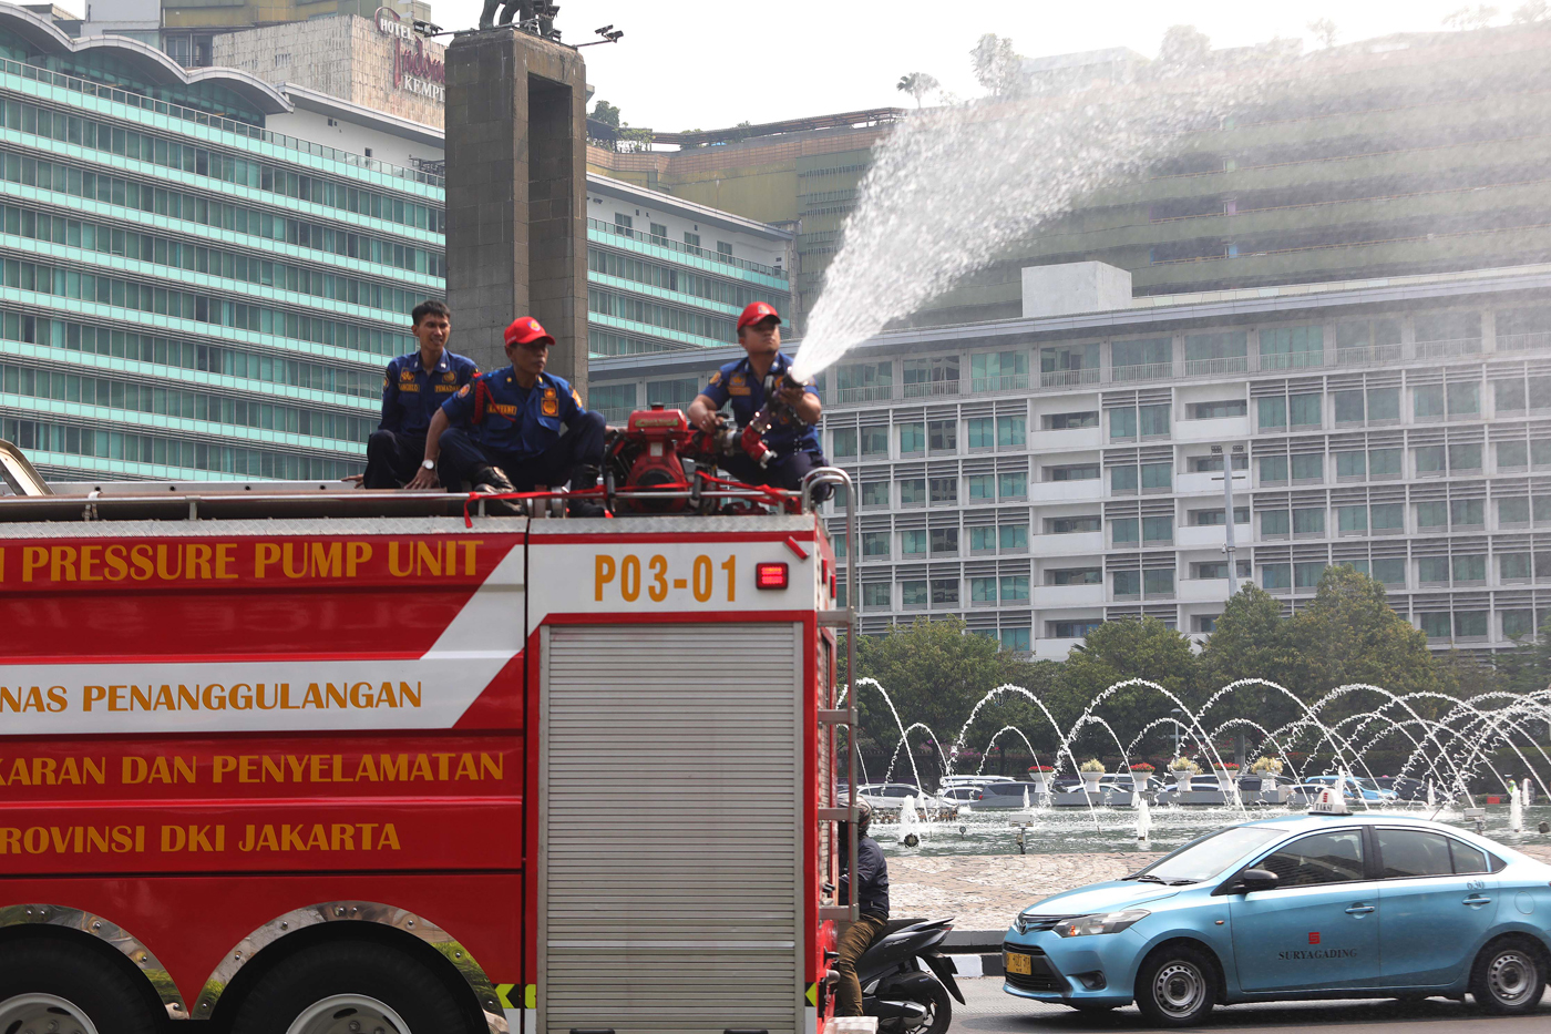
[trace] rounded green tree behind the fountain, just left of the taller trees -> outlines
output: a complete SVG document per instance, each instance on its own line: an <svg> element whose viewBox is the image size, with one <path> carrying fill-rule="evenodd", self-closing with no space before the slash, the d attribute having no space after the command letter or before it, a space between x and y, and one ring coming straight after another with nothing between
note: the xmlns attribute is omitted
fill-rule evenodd
<svg viewBox="0 0 1551 1034"><path fill-rule="evenodd" d="M1052 711L1070 728L1092 700L1128 678L1155 682L1187 706L1199 703L1200 672L1190 638L1157 618L1145 616L1106 621L1072 647L1050 694ZM1166 716L1174 706L1151 686L1128 686L1106 697L1093 714L1109 722L1120 742L1129 745L1143 727ZM1174 742L1173 731L1160 727L1142 748L1162 750L1165 741ZM1098 727L1084 728L1076 742L1089 753L1117 753L1115 741Z"/></svg>

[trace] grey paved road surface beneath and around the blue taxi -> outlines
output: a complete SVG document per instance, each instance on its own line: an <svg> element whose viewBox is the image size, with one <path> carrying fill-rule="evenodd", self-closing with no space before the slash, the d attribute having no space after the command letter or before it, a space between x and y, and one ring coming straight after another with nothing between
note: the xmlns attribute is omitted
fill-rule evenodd
<svg viewBox="0 0 1551 1034"><path fill-rule="evenodd" d="M999 977L962 980L968 1006L954 1003L952 1034L1154 1034L1137 1009L1126 1008L1103 1015L1083 1015L1075 1009L1045 1006L1014 998L1002 991ZM1253 1034L1320 1028L1321 1034L1531 1034L1551 1029L1551 1003L1529 1017L1489 1017L1467 1005L1444 998L1399 1003L1387 998L1366 1001L1318 1001L1250 1005L1213 1009L1202 1031Z"/></svg>

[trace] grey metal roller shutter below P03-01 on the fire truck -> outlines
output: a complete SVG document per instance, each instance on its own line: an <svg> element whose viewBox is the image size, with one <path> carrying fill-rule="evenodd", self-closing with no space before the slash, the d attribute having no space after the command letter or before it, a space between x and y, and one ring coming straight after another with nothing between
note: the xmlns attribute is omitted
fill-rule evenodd
<svg viewBox="0 0 1551 1034"><path fill-rule="evenodd" d="M800 632L544 629L538 1029L803 1029Z"/></svg>

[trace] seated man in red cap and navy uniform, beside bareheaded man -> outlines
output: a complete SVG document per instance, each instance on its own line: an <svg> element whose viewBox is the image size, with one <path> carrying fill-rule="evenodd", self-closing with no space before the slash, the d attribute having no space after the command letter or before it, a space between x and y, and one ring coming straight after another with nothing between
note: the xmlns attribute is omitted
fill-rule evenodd
<svg viewBox="0 0 1551 1034"><path fill-rule="evenodd" d="M530 492L535 486L597 488L603 464L603 415L582 408L563 379L544 373L555 338L532 317L506 328L512 365L458 390L431 418L425 460L448 488ZM572 517L599 517L591 500L571 500Z"/></svg>

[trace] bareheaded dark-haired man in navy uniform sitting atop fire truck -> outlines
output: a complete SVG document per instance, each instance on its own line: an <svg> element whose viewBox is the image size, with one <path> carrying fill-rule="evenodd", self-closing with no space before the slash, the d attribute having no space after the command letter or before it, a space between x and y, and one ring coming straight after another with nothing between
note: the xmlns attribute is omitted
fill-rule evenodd
<svg viewBox="0 0 1551 1034"><path fill-rule="evenodd" d="M425 433L442 402L479 376L472 359L447 351L451 311L422 301L411 314L417 351L388 363L383 419L366 439L366 488L436 488L436 464L423 466Z"/></svg>

